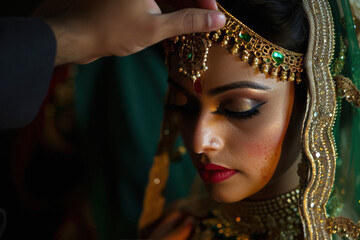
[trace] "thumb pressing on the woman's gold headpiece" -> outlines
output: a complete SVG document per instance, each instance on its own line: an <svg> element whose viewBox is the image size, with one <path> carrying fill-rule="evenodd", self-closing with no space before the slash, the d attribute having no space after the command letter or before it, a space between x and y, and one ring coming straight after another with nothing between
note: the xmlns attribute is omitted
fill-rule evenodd
<svg viewBox="0 0 360 240"><path fill-rule="evenodd" d="M225 16L216 10L188 8L158 15L159 40L193 32L211 32L225 25Z"/></svg>

